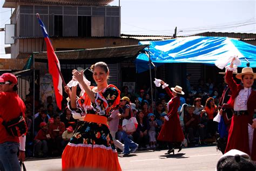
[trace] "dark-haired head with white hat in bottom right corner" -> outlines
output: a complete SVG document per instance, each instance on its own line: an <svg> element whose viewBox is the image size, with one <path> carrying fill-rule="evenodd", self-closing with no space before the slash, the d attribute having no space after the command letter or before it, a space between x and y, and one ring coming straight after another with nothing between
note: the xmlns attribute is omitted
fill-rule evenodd
<svg viewBox="0 0 256 171"><path fill-rule="evenodd" d="M215 170L255 171L256 163L251 160L248 154L237 149L231 149L221 156Z"/></svg>

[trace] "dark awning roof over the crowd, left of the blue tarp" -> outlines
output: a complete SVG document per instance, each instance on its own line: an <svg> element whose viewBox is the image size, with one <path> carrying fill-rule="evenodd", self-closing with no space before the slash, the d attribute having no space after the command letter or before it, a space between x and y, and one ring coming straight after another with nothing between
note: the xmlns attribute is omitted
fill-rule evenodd
<svg viewBox="0 0 256 171"><path fill-rule="evenodd" d="M118 46L118 47L104 47L97 49L83 49L72 51L56 51L56 55L61 63L72 63L81 61L123 61L128 58L137 57L138 53L142 51L147 45L130 45L130 46ZM35 61L46 61L47 53L39 52L34 53Z"/></svg>

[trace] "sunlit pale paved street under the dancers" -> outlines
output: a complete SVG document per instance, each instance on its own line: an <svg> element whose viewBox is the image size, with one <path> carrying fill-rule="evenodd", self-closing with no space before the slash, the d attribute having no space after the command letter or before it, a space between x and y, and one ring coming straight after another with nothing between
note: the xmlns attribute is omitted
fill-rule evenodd
<svg viewBox="0 0 256 171"><path fill-rule="evenodd" d="M214 170L221 156L214 146L184 148L174 155L165 152L138 152L118 159L123 170ZM25 165L29 171L61 170L61 159L26 161Z"/></svg>

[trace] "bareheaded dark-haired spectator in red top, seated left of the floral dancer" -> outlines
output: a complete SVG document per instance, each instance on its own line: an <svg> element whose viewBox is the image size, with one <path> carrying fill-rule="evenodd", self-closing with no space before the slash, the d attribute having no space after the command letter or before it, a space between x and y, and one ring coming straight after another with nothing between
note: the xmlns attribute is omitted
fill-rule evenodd
<svg viewBox="0 0 256 171"><path fill-rule="evenodd" d="M49 124L49 134L51 135L51 144L53 155L60 155L62 153L62 134L65 131L65 124L60 121L59 114L53 115L53 123Z"/></svg>

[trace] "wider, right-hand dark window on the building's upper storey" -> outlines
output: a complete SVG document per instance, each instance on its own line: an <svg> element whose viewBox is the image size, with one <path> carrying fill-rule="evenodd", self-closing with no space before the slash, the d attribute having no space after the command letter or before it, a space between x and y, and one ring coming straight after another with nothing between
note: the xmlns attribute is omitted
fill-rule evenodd
<svg viewBox="0 0 256 171"><path fill-rule="evenodd" d="M78 37L91 37L90 16L78 16Z"/></svg>

